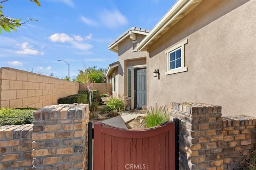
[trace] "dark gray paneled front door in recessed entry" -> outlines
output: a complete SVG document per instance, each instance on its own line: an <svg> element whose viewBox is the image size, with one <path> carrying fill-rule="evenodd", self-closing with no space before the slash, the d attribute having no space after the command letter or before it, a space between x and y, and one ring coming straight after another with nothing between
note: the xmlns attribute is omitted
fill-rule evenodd
<svg viewBox="0 0 256 170"><path fill-rule="evenodd" d="M134 108L140 109L146 105L146 68L134 69Z"/></svg>

